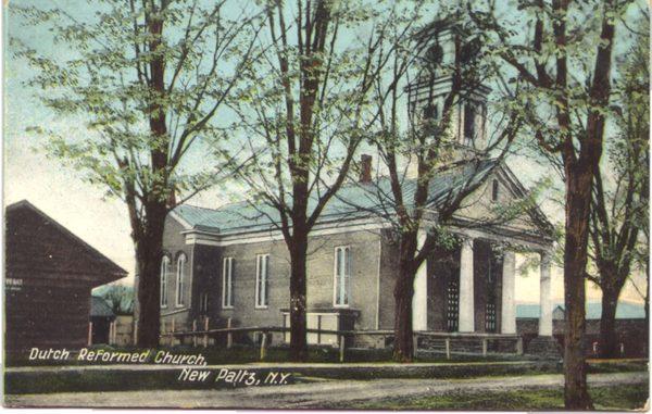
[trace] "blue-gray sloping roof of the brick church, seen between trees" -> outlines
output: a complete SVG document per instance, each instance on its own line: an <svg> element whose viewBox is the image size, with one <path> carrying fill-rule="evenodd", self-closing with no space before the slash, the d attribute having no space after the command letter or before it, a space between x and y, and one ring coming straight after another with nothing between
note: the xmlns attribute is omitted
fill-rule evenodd
<svg viewBox="0 0 652 414"><path fill-rule="evenodd" d="M478 160L435 176L430 180L429 205L442 203L465 185L484 179L496 166L496 160ZM386 211L391 211L393 204L390 185L387 177L381 177L374 184L343 185L319 215L319 222L384 215ZM416 180L404 179L402 187L404 199L413 200ZM315 203L315 199L311 200L309 211L314 209ZM217 209L181 204L174 212L195 229L221 234L272 229L275 228L274 223L280 222L278 211L264 202L244 201Z"/></svg>

